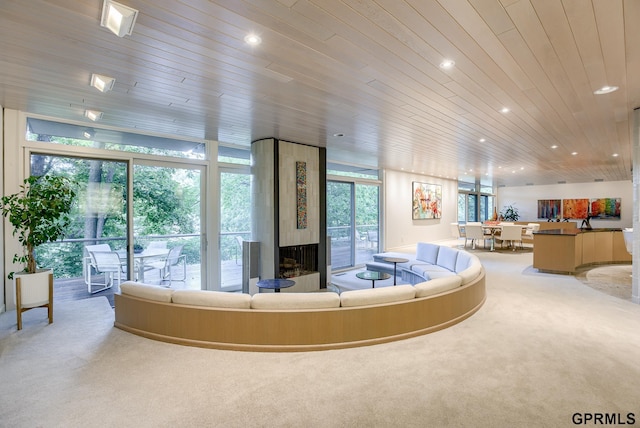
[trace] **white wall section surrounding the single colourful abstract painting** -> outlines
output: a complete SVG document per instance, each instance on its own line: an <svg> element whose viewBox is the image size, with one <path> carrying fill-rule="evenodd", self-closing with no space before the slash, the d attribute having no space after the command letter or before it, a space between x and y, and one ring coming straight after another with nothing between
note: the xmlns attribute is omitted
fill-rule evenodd
<svg viewBox="0 0 640 428"><path fill-rule="evenodd" d="M412 220L412 183L442 185L442 218ZM384 248L381 251L415 249L418 242L451 239L451 223L457 221L458 182L401 171L384 172Z"/></svg>

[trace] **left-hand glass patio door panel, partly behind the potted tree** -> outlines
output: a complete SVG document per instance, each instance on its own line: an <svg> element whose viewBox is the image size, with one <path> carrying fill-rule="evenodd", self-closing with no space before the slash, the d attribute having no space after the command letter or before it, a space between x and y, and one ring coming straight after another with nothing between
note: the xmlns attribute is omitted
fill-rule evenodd
<svg viewBox="0 0 640 428"><path fill-rule="evenodd" d="M84 298L126 280L127 162L42 154L30 160L31 175L65 176L77 186L64 239L41 245L36 255L39 266L54 269L56 297ZM113 252L121 261L96 271L91 252Z"/></svg>

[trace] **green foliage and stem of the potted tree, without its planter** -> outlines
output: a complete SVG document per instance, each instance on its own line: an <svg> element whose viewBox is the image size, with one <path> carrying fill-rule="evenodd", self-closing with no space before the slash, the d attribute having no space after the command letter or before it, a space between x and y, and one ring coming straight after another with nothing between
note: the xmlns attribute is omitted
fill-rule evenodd
<svg viewBox="0 0 640 428"><path fill-rule="evenodd" d="M2 197L2 215L9 219L13 235L18 236L24 250L22 255L13 256L13 262L24 263L24 272L36 272L35 250L39 245L64 236L71 223L74 187L65 177L31 176L24 180L19 192Z"/></svg>

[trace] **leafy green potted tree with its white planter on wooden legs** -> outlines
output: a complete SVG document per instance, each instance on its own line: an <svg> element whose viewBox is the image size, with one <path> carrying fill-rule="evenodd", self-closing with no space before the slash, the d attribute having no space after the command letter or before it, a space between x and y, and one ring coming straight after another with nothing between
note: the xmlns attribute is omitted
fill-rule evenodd
<svg viewBox="0 0 640 428"><path fill-rule="evenodd" d="M48 306L49 322L53 320L53 273L51 269L37 269L35 251L39 245L64 236L71 223L69 213L76 196L74 187L65 177L31 176L24 180L20 191L2 197L2 215L9 219L13 235L17 235L23 248L22 254L13 256L13 263L23 263L24 269L9 273L9 279L20 277L20 281L16 281L16 291L21 290L16 293L18 329L21 311L32 307Z"/></svg>

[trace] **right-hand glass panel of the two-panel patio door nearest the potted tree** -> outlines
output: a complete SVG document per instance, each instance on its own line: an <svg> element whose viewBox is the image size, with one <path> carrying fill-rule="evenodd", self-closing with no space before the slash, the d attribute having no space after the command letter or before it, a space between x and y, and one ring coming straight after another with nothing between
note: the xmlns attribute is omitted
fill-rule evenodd
<svg viewBox="0 0 640 428"><path fill-rule="evenodd" d="M133 168L138 281L202 288L203 167L137 162Z"/></svg>

